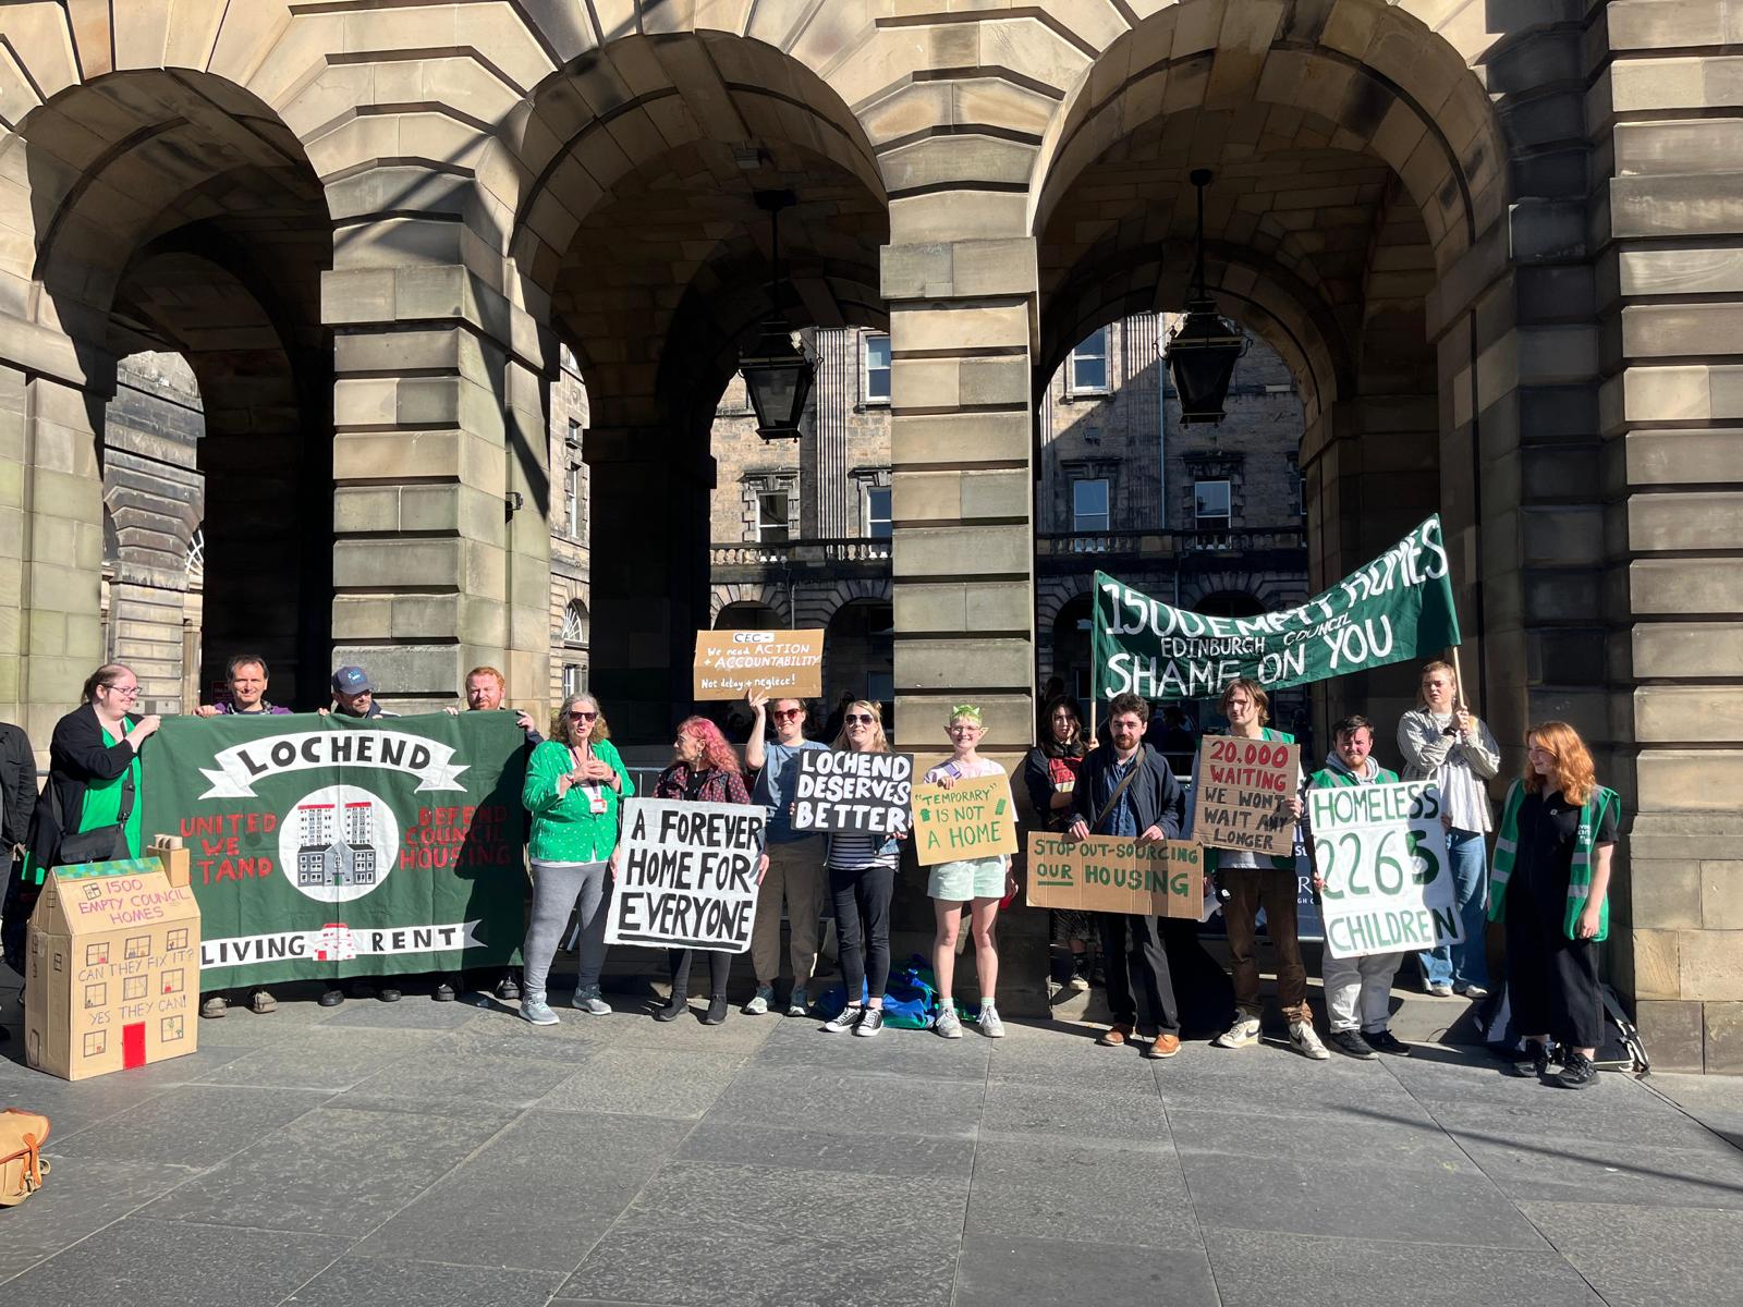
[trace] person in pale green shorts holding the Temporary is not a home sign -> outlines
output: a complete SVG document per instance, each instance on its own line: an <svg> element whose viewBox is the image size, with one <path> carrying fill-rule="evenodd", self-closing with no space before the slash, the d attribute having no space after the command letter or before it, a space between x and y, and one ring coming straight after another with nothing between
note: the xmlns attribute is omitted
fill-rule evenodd
<svg viewBox="0 0 1743 1307"><path fill-rule="evenodd" d="M955 789L960 781L983 775L1004 775L992 758L981 758L976 746L987 734L985 718L974 704L957 704L950 709L952 756L926 774L926 784ZM1004 1037L999 1019L999 943L994 939L994 922L999 918L999 901L1016 891L1011 878L1011 859L1004 854L990 857L962 857L938 863L926 878L926 892L933 899L933 917L938 934L933 938L933 974L938 979L938 1019L933 1028L945 1039L962 1039L962 1021L952 985L957 972L957 931L962 925L962 904L969 904L969 929L974 932L974 979L980 986L980 1032L988 1039Z"/></svg>

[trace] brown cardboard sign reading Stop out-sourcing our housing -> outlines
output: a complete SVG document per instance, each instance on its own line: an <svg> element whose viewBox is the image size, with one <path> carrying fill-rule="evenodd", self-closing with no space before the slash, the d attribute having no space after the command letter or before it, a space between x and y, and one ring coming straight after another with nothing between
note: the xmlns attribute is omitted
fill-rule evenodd
<svg viewBox="0 0 1743 1307"><path fill-rule="evenodd" d="M1035 908L1196 918L1203 901L1204 849L1196 840L1028 836L1028 903Z"/></svg>

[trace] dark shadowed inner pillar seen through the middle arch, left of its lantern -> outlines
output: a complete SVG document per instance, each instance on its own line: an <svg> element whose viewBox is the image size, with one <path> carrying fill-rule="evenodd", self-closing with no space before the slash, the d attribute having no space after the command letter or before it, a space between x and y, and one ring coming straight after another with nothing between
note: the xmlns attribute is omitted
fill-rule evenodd
<svg viewBox="0 0 1743 1307"><path fill-rule="evenodd" d="M708 620L715 460L669 432L589 427L591 688L631 744L664 744L690 708L695 633Z"/></svg>

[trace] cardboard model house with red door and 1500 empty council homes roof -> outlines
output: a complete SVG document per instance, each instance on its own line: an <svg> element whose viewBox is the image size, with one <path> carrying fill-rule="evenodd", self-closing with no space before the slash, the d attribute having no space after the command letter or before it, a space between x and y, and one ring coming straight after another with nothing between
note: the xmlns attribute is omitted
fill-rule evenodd
<svg viewBox="0 0 1743 1307"><path fill-rule="evenodd" d="M30 915L24 1056L66 1080L199 1042L200 908L155 857L58 866Z"/></svg>

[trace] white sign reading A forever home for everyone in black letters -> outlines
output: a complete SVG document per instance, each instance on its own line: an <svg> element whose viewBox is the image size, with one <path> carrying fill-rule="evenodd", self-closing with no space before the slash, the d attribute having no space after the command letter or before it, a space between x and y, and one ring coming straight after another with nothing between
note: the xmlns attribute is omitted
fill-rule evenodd
<svg viewBox="0 0 1743 1307"><path fill-rule="evenodd" d="M605 943L748 950L767 821L746 803L624 803Z"/></svg>

